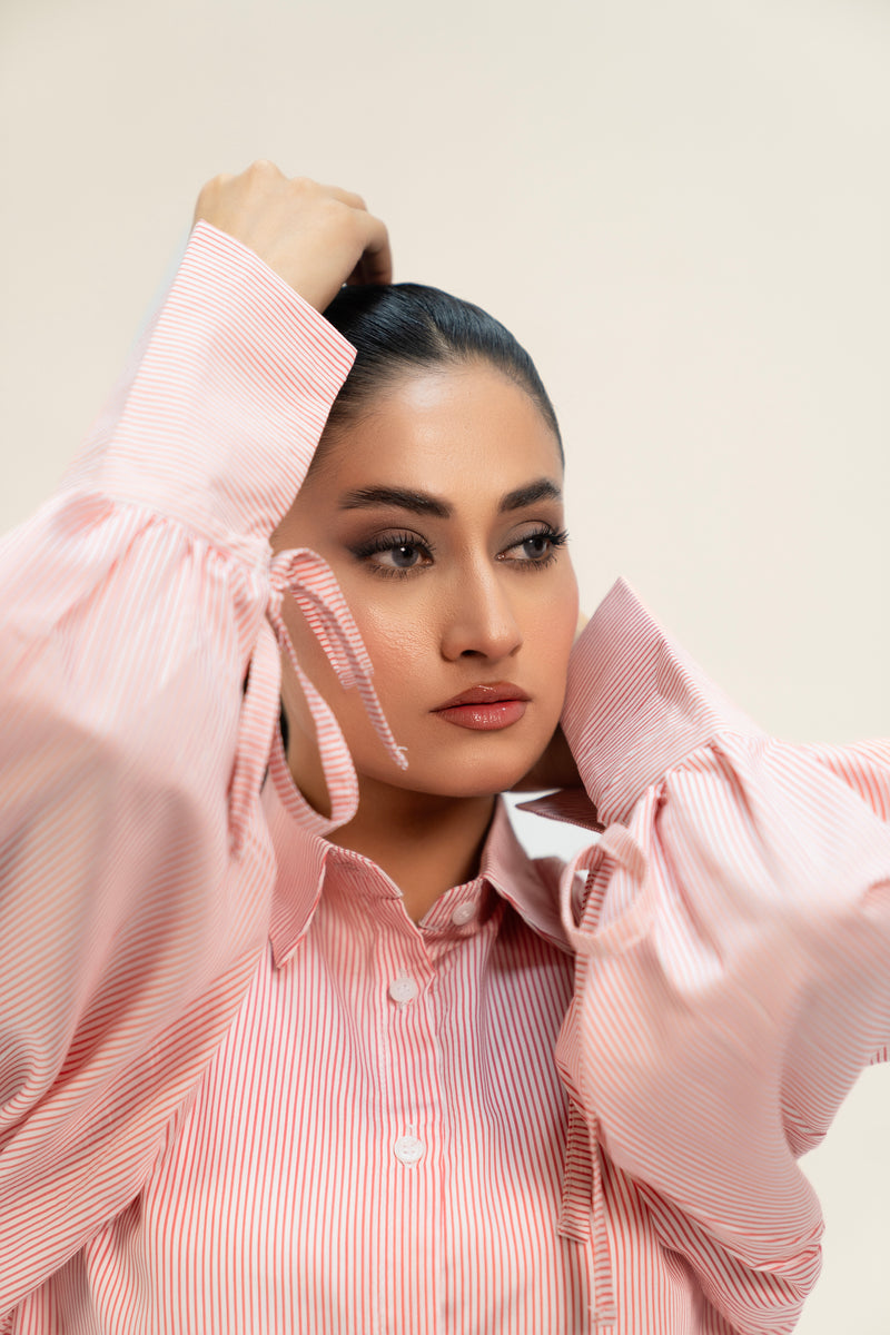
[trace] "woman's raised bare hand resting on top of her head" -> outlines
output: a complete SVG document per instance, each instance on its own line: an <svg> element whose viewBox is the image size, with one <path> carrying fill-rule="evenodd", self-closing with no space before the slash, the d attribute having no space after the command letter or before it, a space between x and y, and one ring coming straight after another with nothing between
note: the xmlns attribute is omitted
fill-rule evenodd
<svg viewBox="0 0 890 1335"><path fill-rule="evenodd" d="M250 246L318 311L343 283L392 282L387 230L364 200L303 176L288 180L274 163L215 176L197 196L201 220Z"/></svg>

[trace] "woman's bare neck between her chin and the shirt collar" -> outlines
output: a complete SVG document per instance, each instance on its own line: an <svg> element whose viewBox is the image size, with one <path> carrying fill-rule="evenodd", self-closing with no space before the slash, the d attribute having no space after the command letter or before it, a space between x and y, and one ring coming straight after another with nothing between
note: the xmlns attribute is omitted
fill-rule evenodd
<svg viewBox="0 0 890 1335"><path fill-rule="evenodd" d="M419 922L440 894L472 880L495 798L438 797L359 780L359 809L332 844L372 858L399 886Z"/></svg>

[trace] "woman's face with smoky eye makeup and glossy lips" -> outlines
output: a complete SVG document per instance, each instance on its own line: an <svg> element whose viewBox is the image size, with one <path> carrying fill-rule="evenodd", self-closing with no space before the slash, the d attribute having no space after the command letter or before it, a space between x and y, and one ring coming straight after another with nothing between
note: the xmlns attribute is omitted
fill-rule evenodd
<svg viewBox="0 0 890 1335"><path fill-rule="evenodd" d="M326 441L274 546L311 547L330 563L407 756L408 768L398 769L358 692L340 686L286 599L298 658L343 729L363 801L374 785L498 793L544 750L578 619L562 473L534 399L484 362L411 374ZM290 665L283 697L291 769L324 810L312 726Z"/></svg>

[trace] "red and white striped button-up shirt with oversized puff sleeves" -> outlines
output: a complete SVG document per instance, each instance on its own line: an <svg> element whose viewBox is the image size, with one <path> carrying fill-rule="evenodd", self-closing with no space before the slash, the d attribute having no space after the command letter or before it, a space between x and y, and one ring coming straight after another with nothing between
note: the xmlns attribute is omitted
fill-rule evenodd
<svg viewBox="0 0 890 1335"><path fill-rule="evenodd" d="M564 717L600 844L499 812L415 926L276 732L295 581L375 708L267 542L350 362L199 226L0 550L0 1328L790 1331L795 1155L890 1036L890 748L765 737L619 585Z"/></svg>

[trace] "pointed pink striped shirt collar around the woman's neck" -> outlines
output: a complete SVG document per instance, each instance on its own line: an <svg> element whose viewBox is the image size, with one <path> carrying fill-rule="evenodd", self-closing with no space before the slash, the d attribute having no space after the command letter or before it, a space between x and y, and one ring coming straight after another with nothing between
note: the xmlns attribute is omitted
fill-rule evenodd
<svg viewBox="0 0 890 1335"><path fill-rule="evenodd" d="M278 864L270 918L270 941L276 968L287 964L310 929L331 854L359 857L324 838L318 822L308 816L308 808L303 820L302 800L294 801L296 790L282 794L280 788L282 776L275 782L267 781L263 788L263 806ZM479 876L463 888L468 892L464 898L482 896L484 886L490 885L532 932L558 949L570 952L559 918L556 881L556 877L546 874L544 865L539 866L528 857L510 822L506 804L498 798L482 852ZM470 930L472 926L467 925L460 933L467 934Z"/></svg>

